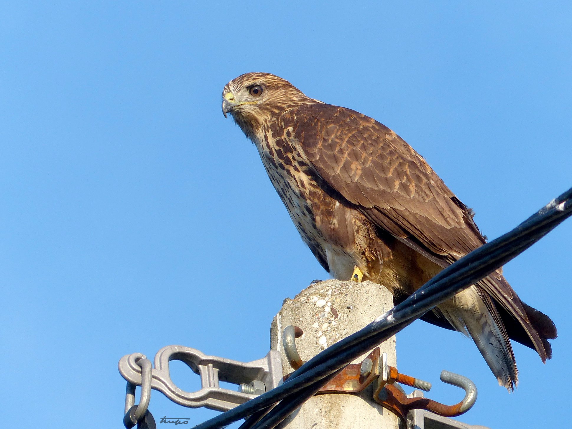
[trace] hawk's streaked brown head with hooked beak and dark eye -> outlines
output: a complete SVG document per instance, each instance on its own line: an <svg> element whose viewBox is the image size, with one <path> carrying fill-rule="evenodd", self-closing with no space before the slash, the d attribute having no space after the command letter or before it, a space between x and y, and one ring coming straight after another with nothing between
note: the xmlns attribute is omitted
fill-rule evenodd
<svg viewBox="0 0 572 429"><path fill-rule="evenodd" d="M251 137L273 117L302 104L315 103L290 82L270 73L245 73L223 89L223 114Z"/></svg>

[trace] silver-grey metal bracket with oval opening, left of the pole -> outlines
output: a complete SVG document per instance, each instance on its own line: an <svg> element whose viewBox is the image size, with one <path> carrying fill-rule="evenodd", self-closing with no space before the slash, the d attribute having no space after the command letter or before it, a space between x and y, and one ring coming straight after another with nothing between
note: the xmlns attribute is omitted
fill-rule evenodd
<svg viewBox="0 0 572 429"><path fill-rule="evenodd" d="M141 367L137 364L141 358L145 358L141 353L125 355L118 364L123 378L137 386L141 386ZM171 360L184 362L195 374L200 375L201 390L185 392L175 386L169 376ZM239 362L208 356L197 349L182 345L168 345L155 355L151 388L162 392L167 398L184 407L206 407L211 410L228 411L257 396L221 388L219 381L234 384L251 384L258 381L264 383L265 391L269 391L279 386L282 381L280 353L271 350L263 359ZM255 390L257 394L260 394L260 387L261 384L257 383Z"/></svg>

